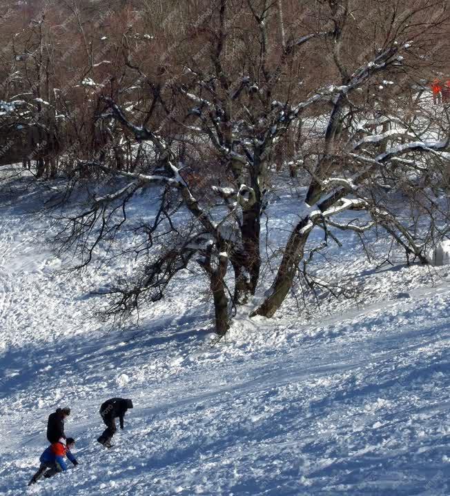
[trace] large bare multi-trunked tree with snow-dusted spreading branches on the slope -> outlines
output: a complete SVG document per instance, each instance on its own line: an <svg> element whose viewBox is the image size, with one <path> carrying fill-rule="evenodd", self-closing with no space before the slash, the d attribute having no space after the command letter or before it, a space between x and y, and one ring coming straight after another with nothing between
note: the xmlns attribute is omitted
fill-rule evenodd
<svg viewBox="0 0 450 496"><path fill-rule="evenodd" d="M280 308L305 254L317 252L315 228L329 234L326 243L340 232L384 228L408 262L422 263L442 235L449 119L429 108L422 83L410 83L418 61L427 66L420 58L427 32L442 21L417 28L429 2L367 19L351 0L325 1L315 6L320 29L305 23L300 32L294 23L289 33L284 2L248 0L243 20L232 4L219 1L207 23L186 30L190 50L179 50L179 72L164 67L151 76L127 54L126 67L142 79L139 97L131 104L126 88L99 97L97 125L133 142L137 155L145 150L146 159L132 170L89 162L101 184L89 208L66 219L61 240L85 255L85 265L103 241L133 232L121 255L141 263L109 291L114 317L163 297L187 269L207 277L222 335L233 309L253 295L261 299L251 315ZM373 23L389 25L389 35ZM196 48L201 57L190 55ZM317 54L330 55L324 74L314 72ZM274 186L286 188L294 166L303 193L267 284L262 226L277 208ZM130 214L142 198L157 205L152 222ZM349 211L360 217L346 221Z"/></svg>

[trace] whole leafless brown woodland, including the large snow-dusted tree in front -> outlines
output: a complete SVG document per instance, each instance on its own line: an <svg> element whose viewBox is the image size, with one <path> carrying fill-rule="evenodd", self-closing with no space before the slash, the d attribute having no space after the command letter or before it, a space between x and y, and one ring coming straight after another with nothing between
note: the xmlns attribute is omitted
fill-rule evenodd
<svg viewBox="0 0 450 496"><path fill-rule="evenodd" d="M408 264L449 236L450 105L430 89L450 81L449 14L446 0L3 1L0 164L57 185L52 208L83 199L57 235L78 268L132 232L123 255L140 265L112 284L109 317L189 268L224 335L237 307L272 317L295 284L313 290L308 264L342 231L383 230ZM297 223L262 281L280 181ZM159 199L152 221L128 215L137 195Z"/></svg>

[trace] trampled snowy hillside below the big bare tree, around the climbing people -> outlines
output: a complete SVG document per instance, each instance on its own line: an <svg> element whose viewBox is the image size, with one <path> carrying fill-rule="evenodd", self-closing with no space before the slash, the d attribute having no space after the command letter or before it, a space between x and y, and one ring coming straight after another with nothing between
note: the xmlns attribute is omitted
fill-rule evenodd
<svg viewBox="0 0 450 496"><path fill-rule="evenodd" d="M56 277L32 215L0 215L1 495L450 495L450 266L330 252L355 299L289 299L211 346L195 279L107 333L88 295L106 269ZM117 396L135 408L108 451L98 410ZM58 406L79 466L27 488Z"/></svg>

